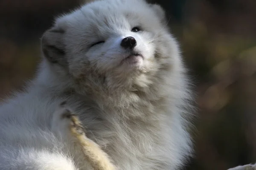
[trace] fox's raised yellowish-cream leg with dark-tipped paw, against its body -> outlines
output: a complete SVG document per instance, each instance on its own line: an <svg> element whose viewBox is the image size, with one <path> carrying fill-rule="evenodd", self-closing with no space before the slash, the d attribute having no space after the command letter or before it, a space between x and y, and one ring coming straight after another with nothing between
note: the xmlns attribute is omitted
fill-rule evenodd
<svg viewBox="0 0 256 170"><path fill-rule="evenodd" d="M55 124L53 125L55 133L64 136L77 150L76 152L79 152L79 156L75 156L74 159L78 159L83 170L91 169L91 167L93 170L116 169L107 153L98 144L87 138L79 117L67 107L65 102L61 103L60 108L56 111L53 124ZM58 126L56 127L56 125ZM63 130L67 130L66 133Z"/></svg>

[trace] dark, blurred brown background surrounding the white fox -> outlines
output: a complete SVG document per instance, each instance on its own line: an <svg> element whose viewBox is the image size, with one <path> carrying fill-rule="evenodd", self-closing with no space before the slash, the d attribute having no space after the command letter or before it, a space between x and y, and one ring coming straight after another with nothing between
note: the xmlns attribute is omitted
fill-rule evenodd
<svg viewBox="0 0 256 170"><path fill-rule="evenodd" d="M195 158L184 170L256 162L256 0L161 4L195 83ZM53 17L82 0L0 0L0 98L35 74Z"/></svg>

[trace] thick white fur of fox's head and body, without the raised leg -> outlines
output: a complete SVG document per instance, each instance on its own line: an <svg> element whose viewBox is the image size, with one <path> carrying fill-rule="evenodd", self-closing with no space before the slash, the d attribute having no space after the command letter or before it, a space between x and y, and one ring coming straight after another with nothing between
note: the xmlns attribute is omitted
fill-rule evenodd
<svg viewBox="0 0 256 170"><path fill-rule="evenodd" d="M163 15L143 0L100 0L56 19L42 38L47 57L36 78L0 106L0 169L92 168L55 119L64 100L118 169L181 167L191 154L191 97ZM131 32L136 26L142 31ZM120 42L129 36L144 57L136 64L122 61L129 51Z"/></svg>

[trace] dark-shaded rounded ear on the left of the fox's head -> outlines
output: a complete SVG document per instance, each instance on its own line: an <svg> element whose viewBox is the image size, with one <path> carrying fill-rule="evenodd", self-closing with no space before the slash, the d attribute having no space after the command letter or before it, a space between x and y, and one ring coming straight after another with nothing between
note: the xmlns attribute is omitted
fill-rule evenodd
<svg viewBox="0 0 256 170"><path fill-rule="evenodd" d="M41 38L41 48L44 57L51 63L66 65L66 52L64 45L65 31L61 28L52 27L44 32Z"/></svg>

